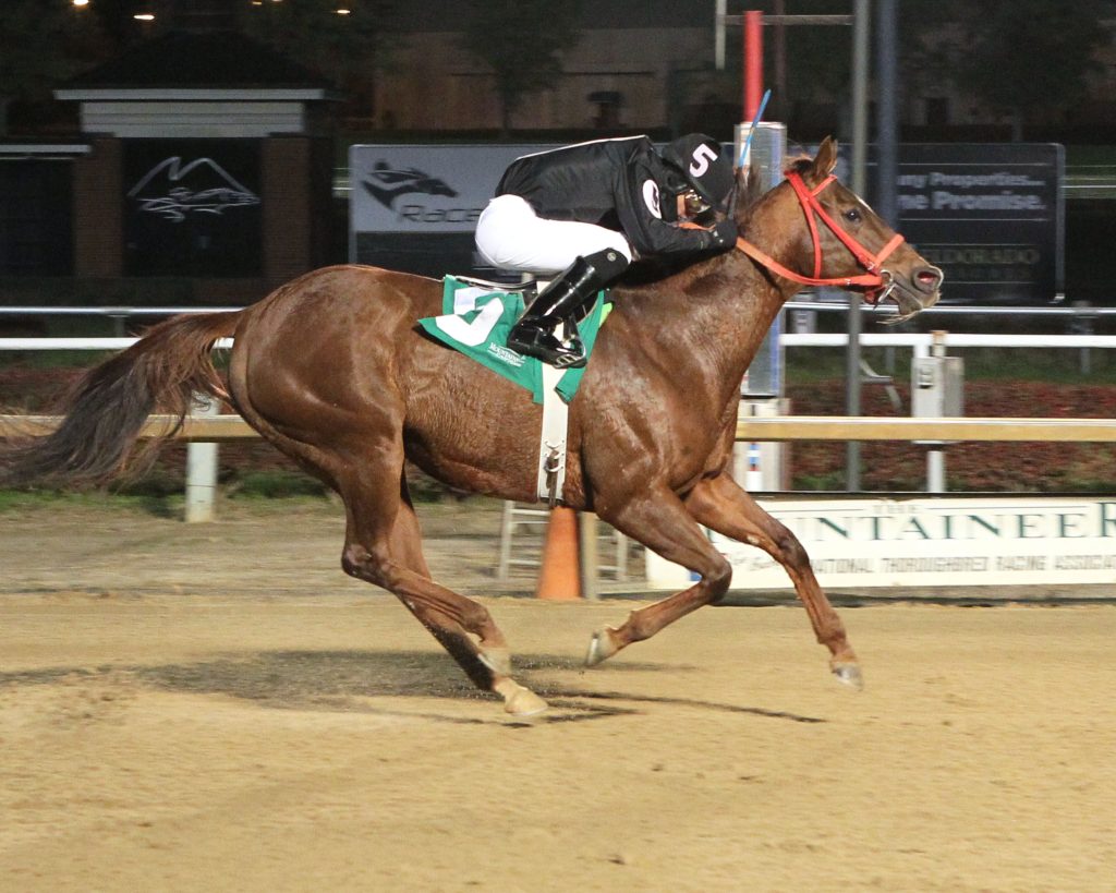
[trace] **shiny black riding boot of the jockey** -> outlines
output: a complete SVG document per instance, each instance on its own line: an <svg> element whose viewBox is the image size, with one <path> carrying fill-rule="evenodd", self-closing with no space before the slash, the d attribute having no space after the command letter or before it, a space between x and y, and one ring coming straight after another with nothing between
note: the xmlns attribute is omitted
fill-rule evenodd
<svg viewBox="0 0 1116 893"><path fill-rule="evenodd" d="M627 258L618 251L598 251L587 258L577 258L530 303L508 333L508 346L556 368L584 366L585 345L575 325L578 311L591 304L597 292L626 268ZM566 343L554 334L559 323L570 329Z"/></svg>

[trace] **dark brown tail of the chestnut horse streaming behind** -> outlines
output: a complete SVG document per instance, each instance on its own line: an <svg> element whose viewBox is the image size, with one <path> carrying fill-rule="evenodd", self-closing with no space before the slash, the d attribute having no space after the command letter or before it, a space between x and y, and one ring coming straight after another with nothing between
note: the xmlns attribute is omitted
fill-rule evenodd
<svg viewBox="0 0 1116 893"><path fill-rule="evenodd" d="M0 486L89 486L150 467L158 445L190 412L195 394L225 397L210 352L232 335L241 311L177 316L89 369L64 401L50 434L0 446ZM175 421L134 449L147 416Z"/></svg>

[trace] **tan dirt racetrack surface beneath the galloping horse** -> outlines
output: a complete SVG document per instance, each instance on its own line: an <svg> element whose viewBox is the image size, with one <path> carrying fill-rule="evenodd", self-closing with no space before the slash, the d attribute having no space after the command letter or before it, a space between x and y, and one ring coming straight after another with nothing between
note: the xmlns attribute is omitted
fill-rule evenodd
<svg viewBox="0 0 1116 893"><path fill-rule="evenodd" d="M432 565L531 723L340 573L336 508L0 512L0 890L1116 890L1110 604L843 608L859 693L797 606L583 672L641 602L493 595L472 511Z"/></svg>

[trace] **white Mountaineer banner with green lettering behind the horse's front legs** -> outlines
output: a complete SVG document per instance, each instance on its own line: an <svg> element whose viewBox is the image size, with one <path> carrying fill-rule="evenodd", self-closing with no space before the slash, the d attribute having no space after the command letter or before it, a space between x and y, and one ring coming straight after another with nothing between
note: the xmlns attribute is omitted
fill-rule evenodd
<svg viewBox="0 0 1116 893"><path fill-rule="evenodd" d="M826 588L1116 584L1116 499L771 499L760 505L799 538ZM766 553L720 535L732 588L789 588ZM647 554L647 584L689 572Z"/></svg>

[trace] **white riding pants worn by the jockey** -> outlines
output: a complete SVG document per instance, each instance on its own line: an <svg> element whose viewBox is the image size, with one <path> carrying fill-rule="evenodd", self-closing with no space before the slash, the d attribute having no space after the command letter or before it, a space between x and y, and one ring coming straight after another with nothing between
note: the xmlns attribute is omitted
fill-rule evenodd
<svg viewBox="0 0 1116 893"><path fill-rule="evenodd" d="M632 247L622 233L596 223L546 220L519 195L498 195L477 221L477 250L498 269L554 275L606 248L631 262Z"/></svg>

